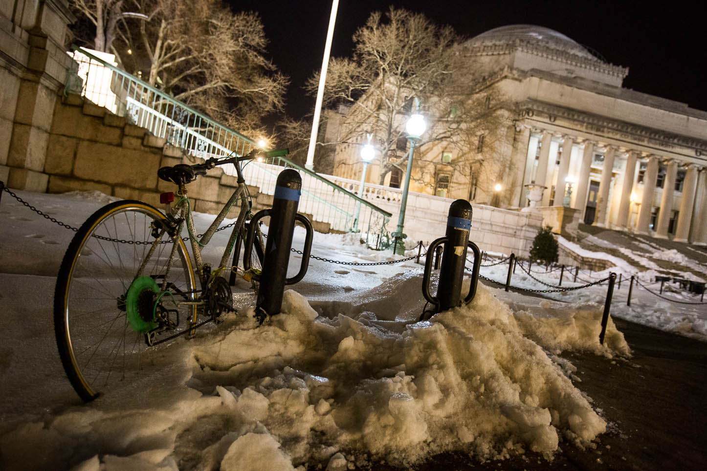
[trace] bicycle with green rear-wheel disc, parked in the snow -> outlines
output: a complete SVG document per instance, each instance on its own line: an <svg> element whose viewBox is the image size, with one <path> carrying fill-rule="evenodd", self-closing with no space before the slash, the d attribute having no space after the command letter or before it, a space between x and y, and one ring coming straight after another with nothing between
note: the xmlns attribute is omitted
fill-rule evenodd
<svg viewBox="0 0 707 471"><path fill-rule="evenodd" d="M173 203L175 193L160 196L165 213L141 201L116 201L95 211L81 225L64 254L54 291L59 357L81 399L94 400L102 389L139 371L146 349L180 335L193 336L197 328L234 310L224 275L239 270L228 263L229 257L236 244L238 256L240 241L245 243L246 239L245 221L252 216L240 162L287 153L286 149L255 149L242 157L162 167L158 176L177 185L179 198ZM187 184L226 164L235 166L238 187L206 232L197 237ZM217 229L239 200L233 232L218 267L212 269L201 258L201 250L217 230L230 226ZM188 238L181 236L185 225ZM257 268L264 244L259 227L256 233L250 266ZM185 245L187 239L194 264ZM235 258L233 264L237 265ZM241 274L250 278L247 272ZM185 319L187 325L180 328Z"/></svg>

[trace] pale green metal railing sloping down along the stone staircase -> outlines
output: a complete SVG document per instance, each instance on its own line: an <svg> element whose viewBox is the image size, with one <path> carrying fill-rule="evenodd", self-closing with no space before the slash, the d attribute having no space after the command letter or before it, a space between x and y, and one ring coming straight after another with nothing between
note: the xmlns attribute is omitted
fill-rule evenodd
<svg viewBox="0 0 707 471"><path fill-rule="evenodd" d="M153 135L201 158L226 157L232 153L243 155L255 147L251 139L218 124L86 49L73 49L74 60L78 63L77 75L83 79L81 95L127 117L132 124L146 128ZM66 92L78 92L76 83L76 77L70 76ZM244 167L244 175L248 184L259 186L261 193L272 195L277 175L284 167L297 169L303 176L300 212L312 215L315 221L328 223L334 231L351 232L358 227L362 234L366 234L367 244L387 247L385 225L391 214L315 172L284 157L274 157L268 162L249 162ZM235 175L235 168L231 165L225 165L223 170Z"/></svg>

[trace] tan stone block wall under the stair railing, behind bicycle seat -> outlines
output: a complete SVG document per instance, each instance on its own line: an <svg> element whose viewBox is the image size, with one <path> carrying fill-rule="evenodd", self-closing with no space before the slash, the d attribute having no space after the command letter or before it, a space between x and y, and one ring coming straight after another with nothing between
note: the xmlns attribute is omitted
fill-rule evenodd
<svg viewBox="0 0 707 471"><path fill-rule="evenodd" d="M157 170L182 160L200 161L183 155L179 148L151 136L146 129L129 124L124 117L81 96L68 95L57 100L54 107L42 169L47 183L37 191L98 190L159 205L160 193L175 191L176 186L158 179ZM237 187L236 177L219 168L211 170L188 187L192 210L218 213ZM249 190L254 202L258 201L257 187L250 186ZM229 217L237 214L238 208L234 208Z"/></svg>

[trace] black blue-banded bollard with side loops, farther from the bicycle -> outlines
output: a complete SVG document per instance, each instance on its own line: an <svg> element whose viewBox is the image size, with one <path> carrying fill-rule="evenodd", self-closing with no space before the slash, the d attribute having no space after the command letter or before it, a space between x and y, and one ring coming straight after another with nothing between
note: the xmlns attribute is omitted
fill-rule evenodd
<svg viewBox="0 0 707 471"><path fill-rule="evenodd" d="M477 282L479 280L479 266L481 266L481 251L474 242L469 242L469 230L472 227L472 205L469 201L459 199L454 201L449 208L447 217L447 232L445 237L436 239L430 244L427 250L425 261L425 271L422 278L422 294L428 302L432 304L432 309L426 310L421 316L421 320L429 318L433 314L447 311L452 307L462 304L462 281L464 277L464 266L467 262L467 248L474 252L474 267L472 268L472 280L469 286L469 294L464 298L464 303L474 299L477 292ZM430 294L429 282L432 268L432 249L441 248L442 264L440 268L439 285L437 296Z"/></svg>

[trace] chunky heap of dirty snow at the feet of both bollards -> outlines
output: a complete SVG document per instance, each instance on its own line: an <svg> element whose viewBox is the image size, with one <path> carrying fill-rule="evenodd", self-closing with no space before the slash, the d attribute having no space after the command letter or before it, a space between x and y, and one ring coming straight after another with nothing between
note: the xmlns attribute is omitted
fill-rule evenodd
<svg viewBox="0 0 707 471"><path fill-rule="evenodd" d="M561 436L584 446L605 429L483 287L470 306L402 333L400 322L370 311L317 318L292 291L284 312L269 326L246 323L195 349L191 383L205 400L218 395L240 429L262 424L295 464L335 451L401 464L452 450L479 458L550 454Z"/></svg>

